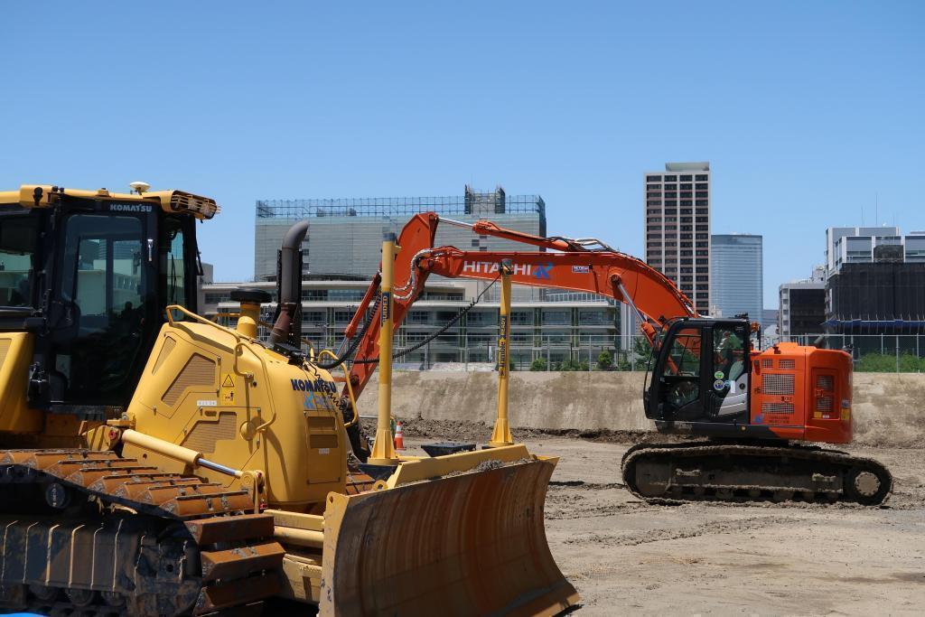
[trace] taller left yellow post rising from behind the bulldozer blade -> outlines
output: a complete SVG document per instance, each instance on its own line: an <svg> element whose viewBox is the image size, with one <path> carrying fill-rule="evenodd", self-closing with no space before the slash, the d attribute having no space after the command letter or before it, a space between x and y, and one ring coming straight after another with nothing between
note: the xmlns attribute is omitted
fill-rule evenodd
<svg viewBox="0 0 925 617"><path fill-rule="evenodd" d="M379 302L379 413L376 421L376 443L369 463L374 465L395 465L399 458L392 443L392 282L394 280L395 255L400 247L395 244L395 234L386 233L382 241L382 287Z"/></svg>

